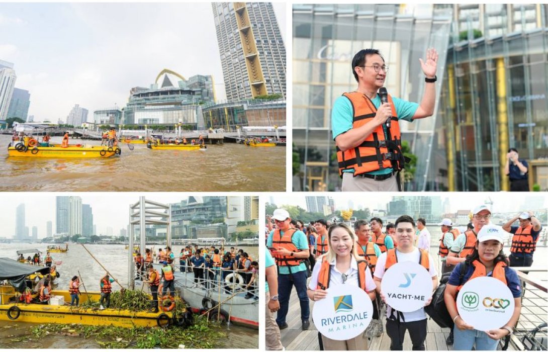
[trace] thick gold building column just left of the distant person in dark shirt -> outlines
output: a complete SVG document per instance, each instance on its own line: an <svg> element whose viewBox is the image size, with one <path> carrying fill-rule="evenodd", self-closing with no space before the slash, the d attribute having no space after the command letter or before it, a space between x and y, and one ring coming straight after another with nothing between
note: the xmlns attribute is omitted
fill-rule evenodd
<svg viewBox="0 0 548 352"><path fill-rule="evenodd" d="M506 153L508 151L508 106L506 102L506 69L504 58L496 59L496 111L497 124L499 126L499 150L500 150L500 189L509 191L508 177L504 174Z"/></svg>

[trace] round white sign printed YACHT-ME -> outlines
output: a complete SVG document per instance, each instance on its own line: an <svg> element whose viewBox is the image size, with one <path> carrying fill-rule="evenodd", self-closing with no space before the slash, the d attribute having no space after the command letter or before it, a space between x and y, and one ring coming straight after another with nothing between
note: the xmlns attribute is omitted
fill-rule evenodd
<svg viewBox="0 0 548 352"><path fill-rule="evenodd" d="M386 270L380 288L393 309L415 311L432 297L432 277L419 263L396 263Z"/></svg>

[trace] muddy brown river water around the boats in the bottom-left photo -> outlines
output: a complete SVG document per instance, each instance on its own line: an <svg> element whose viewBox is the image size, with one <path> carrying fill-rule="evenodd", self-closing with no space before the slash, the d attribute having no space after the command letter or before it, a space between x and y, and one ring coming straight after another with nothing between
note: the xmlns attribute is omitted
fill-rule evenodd
<svg viewBox="0 0 548 352"><path fill-rule="evenodd" d="M95 256L106 269L109 270L112 277L115 277L123 286L127 287L128 283L128 250L124 249L124 245L85 245L89 251ZM0 243L0 257L15 259L16 251L22 249L38 249L45 253L47 244L45 243ZM63 247L63 246L61 246ZM147 246L151 248L152 246ZM183 246L172 246L175 256L181 251ZM158 246L155 246L158 248ZM259 247L238 247L244 252L249 253L252 258L258 258ZM31 254L26 254L29 256ZM26 257L25 256L25 257ZM54 262L61 261L62 264L57 266L60 277L57 279L58 289L67 289L68 282L74 275L78 275L78 271L82 276L84 285L89 291L99 291L99 280L105 275L105 270L89 255L81 245L69 244L67 253L51 253ZM178 262L177 262L178 263ZM117 290L120 287L113 283L113 289ZM83 290L83 287L81 288ZM26 341L12 343L9 336L25 334L31 323L15 323L12 321L0 321L0 348L101 348L93 338L83 339L71 336L46 336L37 341ZM252 328L236 326L231 324L230 327L219 327L219 329L227 332L228 336L219 348L258 348L259 347L259 332ZM2 341L5 341L2 343Z"/></svg>

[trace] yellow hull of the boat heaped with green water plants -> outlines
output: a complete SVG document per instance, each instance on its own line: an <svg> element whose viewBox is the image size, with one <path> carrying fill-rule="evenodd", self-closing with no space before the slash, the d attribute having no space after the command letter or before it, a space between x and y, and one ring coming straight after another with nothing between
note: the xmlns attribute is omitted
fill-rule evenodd
<svg viewBox="0 0 548 352"><path fill-rule="evenodd" d="M70 302L68 291L52 290L56 302ZM0 286L0 320L12 320L14 322L29 323L59 323L82 325L112 325L132 328L168 326L173 318L173 313L162 312L149 313L146 311L83 308L70 305L45 305L19 303L19 293L15 293L12 286ZM87 302L88 298L98 302L100 292L82 292L80 303ZM62 298L62 300L61 300Z"/></svg>

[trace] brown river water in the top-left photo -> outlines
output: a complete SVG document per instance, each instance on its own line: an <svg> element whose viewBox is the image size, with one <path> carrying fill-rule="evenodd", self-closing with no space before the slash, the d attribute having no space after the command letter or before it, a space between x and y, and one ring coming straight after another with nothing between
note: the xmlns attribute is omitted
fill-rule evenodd
<svg viewBox="0 0 548 352"><path fill-rule="evenodd" d="M10 135L0 135L0 191L285 191L286 147L226 143L207 150L150 150L122 144L117 157L8 157ZM61 137L52 137L61 143ZM100 145L73 139L71 143ZM268 180L265 182L265 180Z"/></svg>

